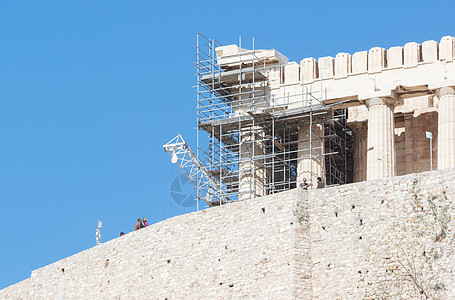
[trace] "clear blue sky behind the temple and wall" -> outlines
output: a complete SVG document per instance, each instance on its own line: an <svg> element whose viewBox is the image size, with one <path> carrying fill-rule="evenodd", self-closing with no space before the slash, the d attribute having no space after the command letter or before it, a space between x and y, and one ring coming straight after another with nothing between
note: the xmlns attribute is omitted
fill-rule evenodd
<svg viewBox="0 0 455 300"><path fill-rule="evenodd" d="M2 1L0 289L189 212L162 145L195 145L196 33L289 59L455 35L454 1ZM138 249L147 251L147 249Z"/></svg>

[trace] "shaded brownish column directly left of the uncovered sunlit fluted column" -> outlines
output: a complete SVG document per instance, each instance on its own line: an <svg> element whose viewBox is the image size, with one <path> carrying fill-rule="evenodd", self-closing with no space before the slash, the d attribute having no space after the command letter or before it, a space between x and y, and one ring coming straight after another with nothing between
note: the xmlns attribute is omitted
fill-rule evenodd
<svg viewBox="0 0 455 300"><path fill-rule="evenodd" d="M367 126L363 122L356 122L349 127L354 131L354 182L365 181L367 179Z"/></svg>

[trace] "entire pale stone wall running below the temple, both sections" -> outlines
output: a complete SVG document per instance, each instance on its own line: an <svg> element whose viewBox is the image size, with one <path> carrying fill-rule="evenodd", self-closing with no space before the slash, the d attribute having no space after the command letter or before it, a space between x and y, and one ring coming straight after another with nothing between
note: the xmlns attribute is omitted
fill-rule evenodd
<svg viewBox="0 0 455 300"><path fill-rule="evenodd" d="M32 272L0 299L455 299L455 169L175 217Z"/></svg>

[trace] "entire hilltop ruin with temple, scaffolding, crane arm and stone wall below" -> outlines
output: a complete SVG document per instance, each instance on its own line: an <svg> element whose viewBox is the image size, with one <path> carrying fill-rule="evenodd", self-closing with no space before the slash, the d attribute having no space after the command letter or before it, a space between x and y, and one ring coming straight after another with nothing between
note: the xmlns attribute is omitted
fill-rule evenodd
<svg viewBox="0 0 455 300"><path fill-rule="evenodd" d="M198 35L197 150L164 148L211 208L0 298L455 299L454 59L450 36L297 63Z"/></svg>

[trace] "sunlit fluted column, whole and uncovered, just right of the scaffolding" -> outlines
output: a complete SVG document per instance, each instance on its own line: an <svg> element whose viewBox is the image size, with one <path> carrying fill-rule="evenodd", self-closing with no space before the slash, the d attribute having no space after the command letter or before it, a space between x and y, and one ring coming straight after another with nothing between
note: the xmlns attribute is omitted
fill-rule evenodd
<svg viewBox="0 0 455 300"><path fill-rule="evenodd" d="M394 98L371 98L368 107L367 180L395 176Z"/></svg>

